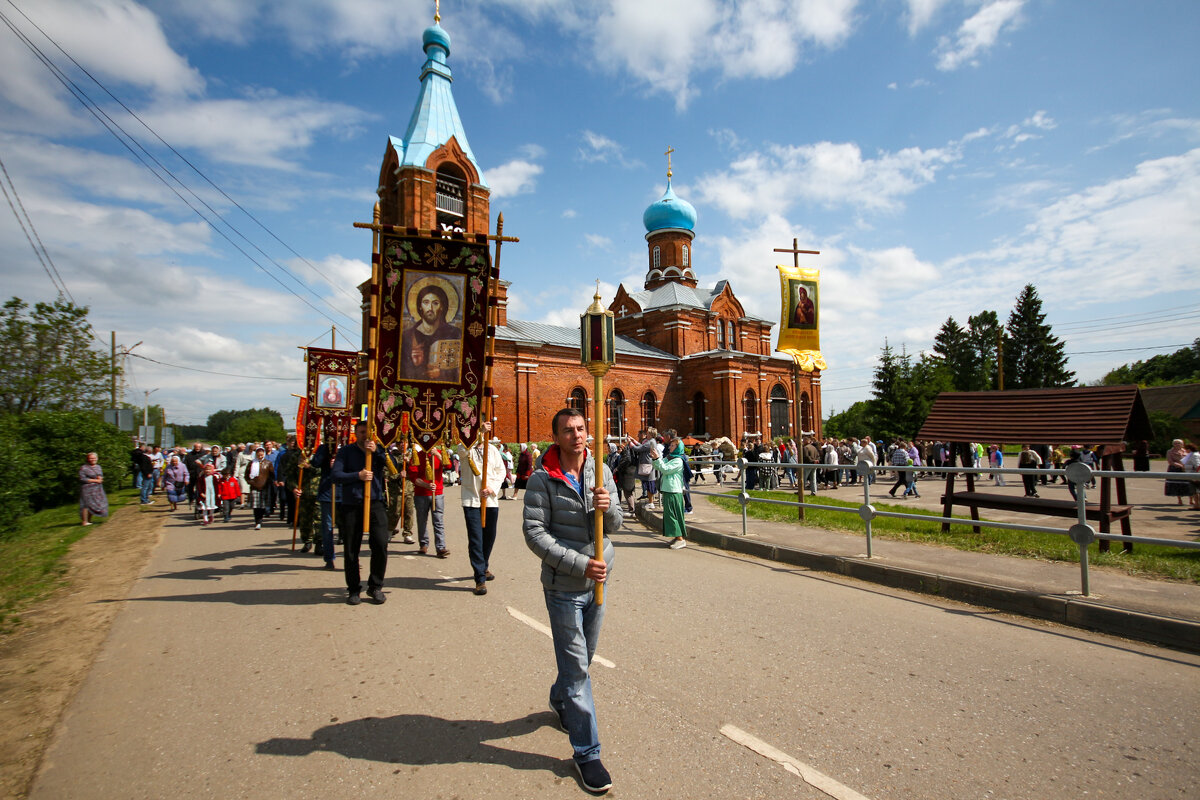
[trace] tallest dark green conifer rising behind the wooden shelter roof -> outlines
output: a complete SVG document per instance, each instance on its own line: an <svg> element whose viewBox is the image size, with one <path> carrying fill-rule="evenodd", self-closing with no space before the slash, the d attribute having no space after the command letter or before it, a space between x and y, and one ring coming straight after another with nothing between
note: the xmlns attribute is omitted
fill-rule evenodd
<svg viewBox="0 0 1200 800"><path fill-rule="evenodd" d="M1042 299L1032 283L1016 296L1004 336L1004 389L1074 386L1067 369L1066 344L1050 332Z"/></svg>

